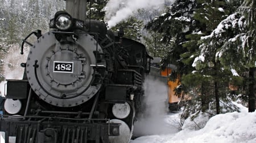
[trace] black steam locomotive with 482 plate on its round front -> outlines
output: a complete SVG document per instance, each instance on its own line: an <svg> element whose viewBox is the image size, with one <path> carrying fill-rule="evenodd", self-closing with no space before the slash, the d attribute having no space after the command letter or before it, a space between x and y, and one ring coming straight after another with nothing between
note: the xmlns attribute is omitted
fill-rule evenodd
<svg viewBox="0 0 256 143"><path fill-rule="evenodd" d="M45 34L32 32L22 80L7 80L5 142L129 142L142 110L146 47L97 20L59 11ZM34 44L27 41L35 35Z"/></svg>

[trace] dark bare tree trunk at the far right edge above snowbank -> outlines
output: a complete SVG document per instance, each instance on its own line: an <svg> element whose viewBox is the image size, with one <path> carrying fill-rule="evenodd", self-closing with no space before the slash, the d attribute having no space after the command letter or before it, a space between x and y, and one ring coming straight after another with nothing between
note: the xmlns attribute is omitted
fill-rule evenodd
<svg viewBox="0 0 256 143"><path fill-rule="evenodd" d="M255 111L255 80L254 80L254 71L255 67L249 68L249 101L248 101L248 110L249 112Z"/></svg>

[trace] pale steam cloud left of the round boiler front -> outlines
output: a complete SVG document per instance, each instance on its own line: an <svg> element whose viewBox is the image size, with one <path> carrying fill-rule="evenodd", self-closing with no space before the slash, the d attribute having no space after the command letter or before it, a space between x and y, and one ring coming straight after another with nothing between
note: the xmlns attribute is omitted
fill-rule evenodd
<svg viewBox="0 0 256 143"><path fill-rule="evenodd" d="M20 67L20 63L26 63L27 51L27 49L24 49L24 55L21 55L19 45L10 47L9 53L2 59L2 74L5 75L5 79L22 79L24 68ZM5 95L6 92L6 83L6 81L0 83L0 95L2 96Z"/></svg>

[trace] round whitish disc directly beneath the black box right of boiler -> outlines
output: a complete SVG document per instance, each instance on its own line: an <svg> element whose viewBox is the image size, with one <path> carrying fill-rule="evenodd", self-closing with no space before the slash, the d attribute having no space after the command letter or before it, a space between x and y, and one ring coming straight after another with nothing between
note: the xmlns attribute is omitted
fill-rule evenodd
<svg viewBox="0 0 256 143"><path fill-rule="evenodd" d="M118 119L124 119L130 114L130 105L125 102L124 104L115 103L112 107L113 115Z"/></svg>

